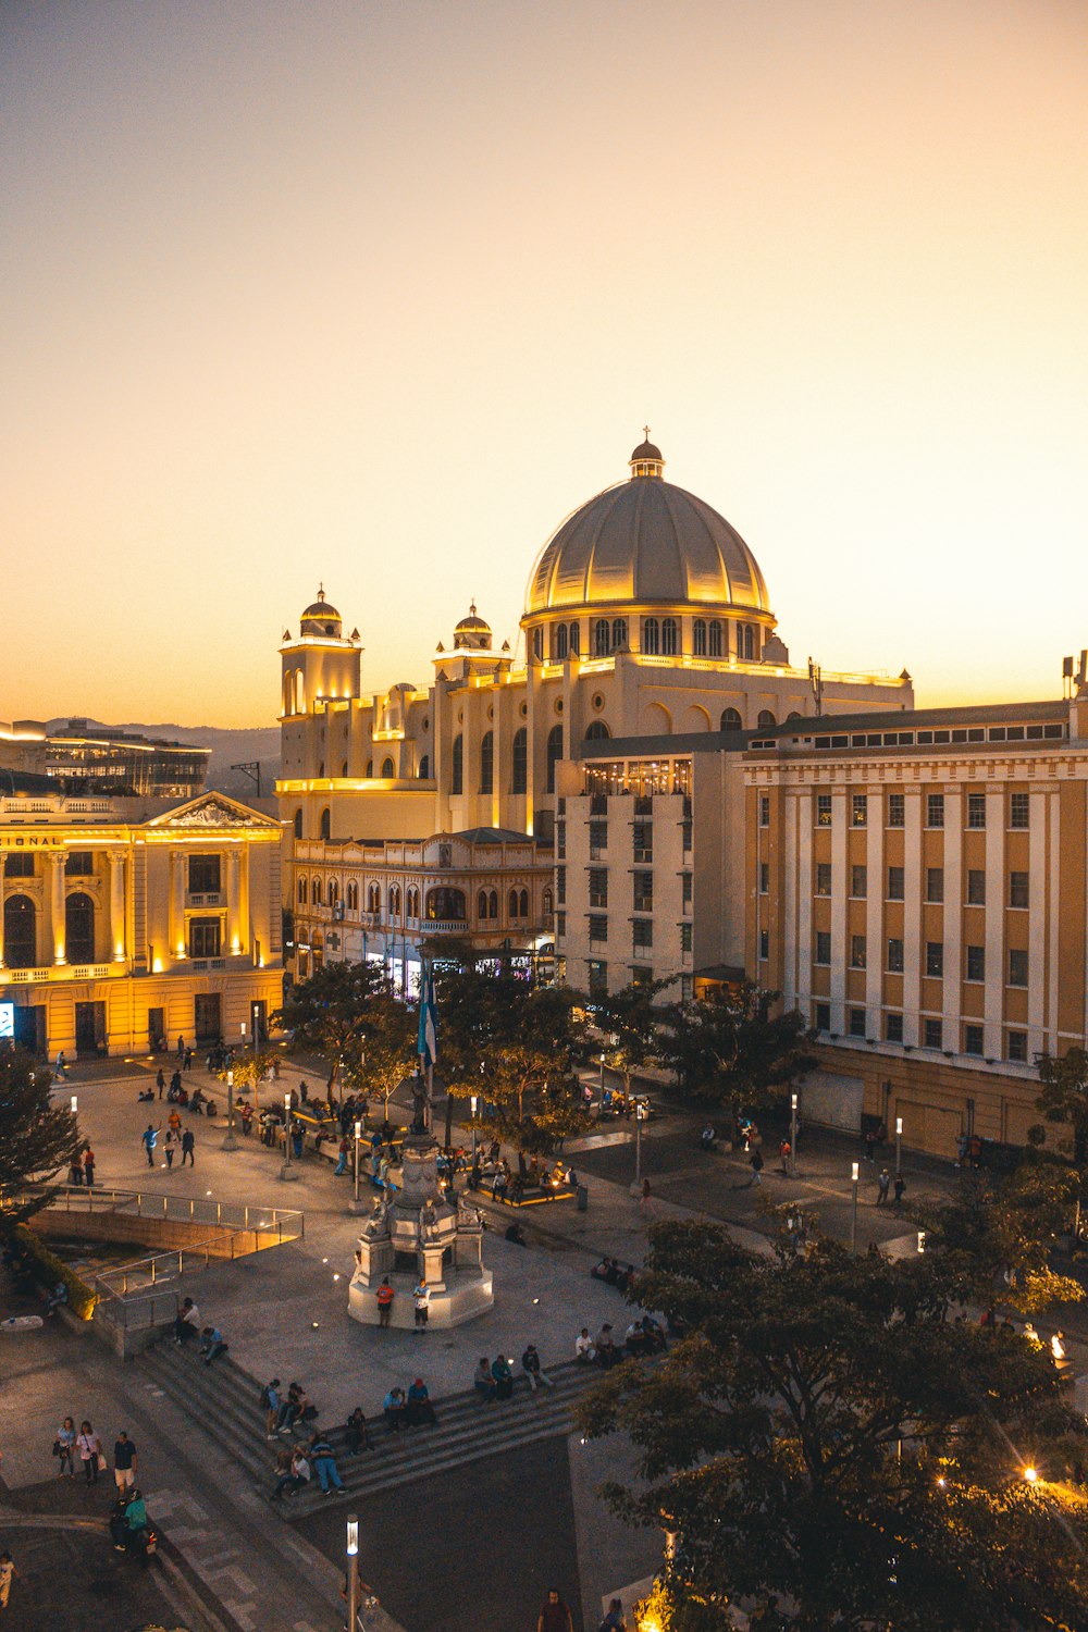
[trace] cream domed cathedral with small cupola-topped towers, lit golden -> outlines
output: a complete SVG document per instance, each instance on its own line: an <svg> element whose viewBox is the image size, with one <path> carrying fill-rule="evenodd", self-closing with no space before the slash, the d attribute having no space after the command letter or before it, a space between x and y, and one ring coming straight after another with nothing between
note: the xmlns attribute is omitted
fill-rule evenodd
<svg viewBox="0 0 1088 1632"><path fill-rule="evenodd" d="M473 605L452 645L436 648L426 685L365 694L359 630L344 635L323 591L305 609L281 648L277 783L287 829L305 845L302 873L320 860L313 845L347 837L506 829L553 854L564 777L581 788L581 744L770 728L816 712L755 557L710 504L666 481L664 465L643 442L628 478L556 529L530 570L515 650L496 650ZM909 708L913 692L907 674L824 674L822 702ZM294 862L290 873L299 911ZM486 927L468 917L470 930ZM543 919L517 925L522 943L545 930Z"/></svg>

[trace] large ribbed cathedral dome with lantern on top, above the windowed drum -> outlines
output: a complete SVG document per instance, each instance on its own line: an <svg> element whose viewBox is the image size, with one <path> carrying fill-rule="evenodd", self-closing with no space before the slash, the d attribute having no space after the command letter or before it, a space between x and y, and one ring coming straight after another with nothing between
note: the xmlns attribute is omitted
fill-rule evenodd
<svg viewBox="0 0 1088 1632"><path fill-rule="evenodd" d="M631 477L556 529L529 581L525 617L577 607L692 604L770 614L763 574L724 516L661 475L648 439Z"/></svg>

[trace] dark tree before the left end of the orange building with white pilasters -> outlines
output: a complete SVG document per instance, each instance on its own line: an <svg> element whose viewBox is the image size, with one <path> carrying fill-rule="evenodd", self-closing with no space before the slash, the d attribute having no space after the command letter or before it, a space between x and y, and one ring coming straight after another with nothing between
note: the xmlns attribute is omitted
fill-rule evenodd
<svg viewBox="0 0 1088 1632"><path fill-rule="evenodd" d="M759 1110L816 1064L803 1015L773 1015L780 992L750 981L666 1010L661 1058L687 1093L714 1105Z"/></svg>

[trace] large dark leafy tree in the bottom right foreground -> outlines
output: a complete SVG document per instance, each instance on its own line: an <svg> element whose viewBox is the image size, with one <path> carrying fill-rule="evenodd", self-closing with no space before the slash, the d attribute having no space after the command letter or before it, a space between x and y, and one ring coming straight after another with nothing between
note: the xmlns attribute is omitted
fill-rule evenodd
<svg viewBox="0 0 1088 1632"><path fill-rule="evenodd" d="M719 1226L654 1227L635 1297L687 1335L612 1371L581 1421L635 1444L644 1485L605 1487L610 1505L677 1537L662 1629L724 1629L737 1599L798 1632L1081 1612L1088 1508L1065 1480L1085 1423L1049 1356L956 1322L953 1291L941 1253L855 1258L816 1235L757 1257Z"/></svg>

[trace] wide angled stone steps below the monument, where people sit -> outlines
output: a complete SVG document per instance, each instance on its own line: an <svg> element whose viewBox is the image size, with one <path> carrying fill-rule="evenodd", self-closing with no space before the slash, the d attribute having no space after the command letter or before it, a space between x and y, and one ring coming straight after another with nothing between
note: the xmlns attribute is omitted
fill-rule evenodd
<svg viewBox="0 0 1088 1632"><path fill-rule="evenodd" d="M261 1384L254 1377L235 1366L228 1355L220 1356L214 1366L204 1366L191 1348L178 1348L170 1340L147 1350L137 1364L150 1382L186 1412L194 1426L202 1428L233 1457L258 1490L264 1495L271 1492L276 1451L290 1444L294 1436L266 1439ZM334 1497L323 1497L315 1474L303 1492L276 1503L274 1511L285 1519L299 1519L325 1503L357 1501L413 1479L481 1457L502 1456L535 1439L568 1435L574 1426L573 1407L597 1373L564 1361L561 1366L550 1366L548 1376L555 1387L542 1387L535 1395L529 1394L525 1379L519 1377L512 1400L486 1404L475 1390L436 1400L439 1420L432 1428L390 1433L385 1420L375 1417L369 1423L374 1451L360 1451L359 1456L347 1454L343 1426L328 1428L318 1420L316 1426L328 1435L336 1451L344 1488ZM312 1431L307 1425L299 1438Z"/></svg>

